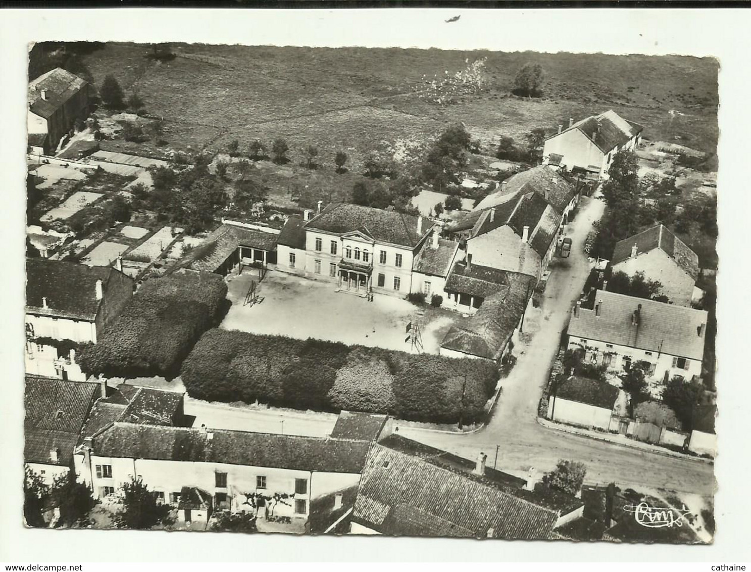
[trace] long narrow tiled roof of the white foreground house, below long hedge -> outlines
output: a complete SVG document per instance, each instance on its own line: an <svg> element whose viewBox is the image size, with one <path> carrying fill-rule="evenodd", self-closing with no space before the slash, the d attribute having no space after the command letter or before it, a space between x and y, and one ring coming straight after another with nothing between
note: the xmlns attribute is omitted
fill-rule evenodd
<svg viewBox="0 0 751 572"><path fill-rule="evenodd" d="M116 422L92 440L96 455L359 474L367 441Z"/></svg>

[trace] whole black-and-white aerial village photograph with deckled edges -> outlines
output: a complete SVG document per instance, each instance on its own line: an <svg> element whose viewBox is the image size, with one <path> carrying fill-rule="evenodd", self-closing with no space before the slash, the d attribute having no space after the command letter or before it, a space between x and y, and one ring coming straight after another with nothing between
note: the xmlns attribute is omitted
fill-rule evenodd
<svg viewBox="0 0 751 572"><path fill-rule="evenodd" d="M712 543L718 74L32 44L24 525Z"/></svg>

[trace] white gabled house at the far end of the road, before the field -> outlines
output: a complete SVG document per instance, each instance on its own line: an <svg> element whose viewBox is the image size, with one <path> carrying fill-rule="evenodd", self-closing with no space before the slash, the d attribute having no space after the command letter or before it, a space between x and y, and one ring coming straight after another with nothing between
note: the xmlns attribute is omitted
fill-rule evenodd
<svg viewBox="0 0 751 572"><path fill-rule="evenodd" d="M634 149L641 141L644 127L620 117L614 110L587 117L577 123L569 120L569 129L547 138L542 160L547 165L569 171L580 170L594 177L607 177L613 156L623 149Z"/></svg>

